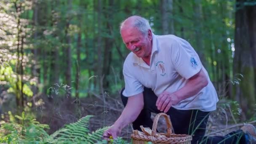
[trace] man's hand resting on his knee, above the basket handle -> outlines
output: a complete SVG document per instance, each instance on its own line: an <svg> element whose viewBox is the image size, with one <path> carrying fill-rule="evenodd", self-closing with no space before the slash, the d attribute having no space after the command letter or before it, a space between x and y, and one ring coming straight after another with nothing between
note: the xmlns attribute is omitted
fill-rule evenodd
<svg viewBox="0 0 256 144"><path fill-rule="evenodd" d="M156 106L158 110L168 112L171 106L178 104L179 101L181 100L176 94L164 91L158 96Z"/></svg>

